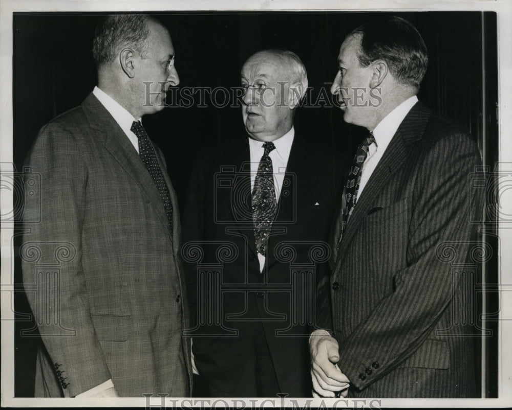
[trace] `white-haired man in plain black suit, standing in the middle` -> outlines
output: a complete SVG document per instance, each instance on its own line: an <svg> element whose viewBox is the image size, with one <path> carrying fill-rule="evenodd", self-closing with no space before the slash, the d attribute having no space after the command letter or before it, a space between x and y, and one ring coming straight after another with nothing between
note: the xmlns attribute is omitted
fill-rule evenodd
<svg viewBox="0 0 512 410"><path fill-rule="evenodd" d="M185 212L195 364L211 396L309 396L340 164L293 127L308 84L294 53L258 52L241 78L248 136L200 152Z"/></svg>

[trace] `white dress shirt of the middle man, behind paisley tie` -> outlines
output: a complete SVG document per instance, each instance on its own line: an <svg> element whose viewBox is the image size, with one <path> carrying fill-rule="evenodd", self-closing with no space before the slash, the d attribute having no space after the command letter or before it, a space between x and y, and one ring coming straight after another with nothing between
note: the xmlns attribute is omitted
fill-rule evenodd
<svg viewBox="0 0 512 410"><path fill-rule="evenodd" d="M295 129L292 126L291 129L286 134L284 134L277 140L272 141L272 143L275 146L275 149L270 151L270 153L268 154L270 160L272 161L275 199L278 203L279 197L281 195L281 188L283 187L286 166L288 164L288 158L290 156L290 150L294 136ZM256 179L256 174L258 173L258 166L260 165L261 157L265 152L263 144L263 141L253 140L252 138L249 138L249 151L251 161L251 192L254 189L254 180ZM258 261L260 262L260 272L262 272L263 267L265 266L265 257L259 252Z"/></svg>

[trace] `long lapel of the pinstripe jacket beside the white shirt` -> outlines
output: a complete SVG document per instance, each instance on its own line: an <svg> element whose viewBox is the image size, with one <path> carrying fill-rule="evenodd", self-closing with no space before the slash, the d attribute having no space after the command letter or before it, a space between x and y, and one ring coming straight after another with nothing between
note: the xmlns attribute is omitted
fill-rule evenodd
<svg viewBox="0 0 512 410"><path fill-rule="evenodd" d="M431 111L421 102L418 102L403 119L361 196L357 199L356 206L343 234L343 239L339 244L337 255L335 255L336 264L342 260L368 211L375 206L375 199L389 185L390 179L405 162L408 155L408 145L421 139L430 116ZM371 238L369 238L369 241L371 241Z"/></svg>

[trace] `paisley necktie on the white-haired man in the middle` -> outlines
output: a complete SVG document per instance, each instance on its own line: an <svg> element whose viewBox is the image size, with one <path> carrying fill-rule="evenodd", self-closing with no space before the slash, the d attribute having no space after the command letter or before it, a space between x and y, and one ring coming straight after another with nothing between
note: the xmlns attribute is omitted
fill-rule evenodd
<svg viewBox="0 0 512 410"><path fill-rule="evenodd" d="M252 189L252 221L254 222L256 249L265 256L268 235L278 209L278 202L275 199L272 160L268 156L275 146L271 142L266 142L263 144L263 148L265 152L261 157Z"/></svg>

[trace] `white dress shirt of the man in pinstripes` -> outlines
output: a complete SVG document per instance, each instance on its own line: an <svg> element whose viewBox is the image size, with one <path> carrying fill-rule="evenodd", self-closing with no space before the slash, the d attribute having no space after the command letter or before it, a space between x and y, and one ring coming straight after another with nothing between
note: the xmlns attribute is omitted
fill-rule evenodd
<svg viewBox="0 0 512 410"><path fill-rule="evenodd" d="M368 155L365 163L362 166L361 171L361 182L359 183L359 190L357 191L357 198L361 197L362 190L365 189L370 176L373 171L377 168L377 164L382 158L384 151L388 148L393 135L402 123L403 119L406 118L411 108L418 102L418 97L413 96L406 101L402 102L398 107L391 111L386 117L380 121L377 126L373 129L373 136L375 143L370 144L368 147Z"/></svg>

